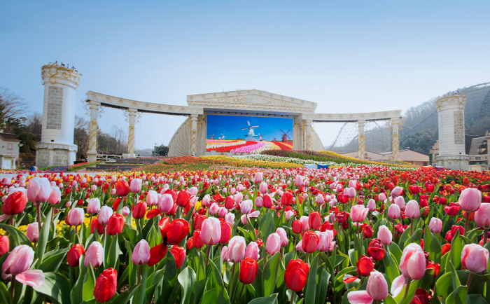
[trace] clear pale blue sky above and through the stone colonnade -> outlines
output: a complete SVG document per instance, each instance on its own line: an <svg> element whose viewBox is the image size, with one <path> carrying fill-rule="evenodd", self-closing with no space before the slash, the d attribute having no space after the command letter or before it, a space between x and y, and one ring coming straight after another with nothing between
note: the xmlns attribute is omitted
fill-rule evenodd
<svg viewBox="0 0 490 304"><path fill-rule="evenodd" d="M41 66L88 90L186 105L258 89L317 113L408 109L490 82L490 1L0 1L0 86L41 112ZM81 102L78 113L84 114ZM144 114L137 148L168 144L184 118ZM102 130L127 130L106 109ZM338 124L316 124L330 144Z"/></svg>

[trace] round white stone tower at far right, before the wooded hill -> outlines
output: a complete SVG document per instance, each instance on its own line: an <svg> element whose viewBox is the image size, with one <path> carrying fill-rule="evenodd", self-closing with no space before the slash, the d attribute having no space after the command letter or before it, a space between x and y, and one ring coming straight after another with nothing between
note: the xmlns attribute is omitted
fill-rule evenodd
<svg viewBox="0 0 490 304"><path fill-rule="evenodd" d="M469 170L469 156L465 153L464 94L435 99L439 120L439 155L437 166L453 170Z"/></svg>

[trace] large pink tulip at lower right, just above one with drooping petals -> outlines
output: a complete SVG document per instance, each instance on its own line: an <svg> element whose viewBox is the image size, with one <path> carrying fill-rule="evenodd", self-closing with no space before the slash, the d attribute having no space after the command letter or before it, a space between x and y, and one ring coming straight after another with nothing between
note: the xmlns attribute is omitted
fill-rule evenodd
<svg viewBox="0 0 490 304"><path fill-rule="evenodd" d="M408 207L409 205L407 205L407 209ZM402 270L402 275L409 279L421 279L425 275L426 256L423 255L422 247L419 244L408 244L403 249L399 268Z"/></svg>

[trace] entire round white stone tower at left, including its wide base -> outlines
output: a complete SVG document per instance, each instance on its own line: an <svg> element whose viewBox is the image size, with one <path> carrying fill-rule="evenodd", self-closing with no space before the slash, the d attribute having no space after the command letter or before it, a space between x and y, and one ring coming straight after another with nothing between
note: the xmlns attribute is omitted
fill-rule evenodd
<svg viewBox="0 0 490 304"><path fill-rule="evenodd" d="M41 67L44 106L41 141L36 144L38 167L73 165L76 159L73 130L80 76L75 69L57 62Z"/></svg>

